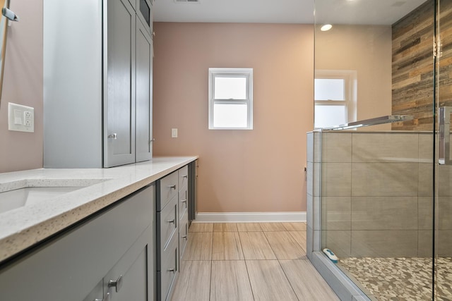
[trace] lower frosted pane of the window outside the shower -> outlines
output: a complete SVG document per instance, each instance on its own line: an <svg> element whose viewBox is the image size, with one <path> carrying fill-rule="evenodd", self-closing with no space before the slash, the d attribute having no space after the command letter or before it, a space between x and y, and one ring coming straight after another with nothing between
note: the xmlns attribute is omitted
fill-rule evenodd
<svg viewBox="0 0 452 301"><path fill-rule="evenodd" d="M247 104L213 104L215 128L246 128L248 126Z"/></svg>

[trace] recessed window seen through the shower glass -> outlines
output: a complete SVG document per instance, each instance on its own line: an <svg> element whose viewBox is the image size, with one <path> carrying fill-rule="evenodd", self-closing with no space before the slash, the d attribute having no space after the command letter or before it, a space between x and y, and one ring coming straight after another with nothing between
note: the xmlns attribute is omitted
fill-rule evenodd
<svg viewBox="0 0 452 301"><path fill-rule="evenodd" d="M316 70L314 128L356 120L356 71Z"/></svg>

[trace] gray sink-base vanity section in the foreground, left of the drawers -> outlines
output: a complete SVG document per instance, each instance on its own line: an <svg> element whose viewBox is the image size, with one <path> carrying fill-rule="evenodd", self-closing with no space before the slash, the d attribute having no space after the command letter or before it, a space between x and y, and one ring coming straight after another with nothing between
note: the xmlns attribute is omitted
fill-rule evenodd
<svg viewBox="0 0 452 301"><path fill-rule="evenodd" d="M0 269L0 299L154 300L149 185Z"/></svg>

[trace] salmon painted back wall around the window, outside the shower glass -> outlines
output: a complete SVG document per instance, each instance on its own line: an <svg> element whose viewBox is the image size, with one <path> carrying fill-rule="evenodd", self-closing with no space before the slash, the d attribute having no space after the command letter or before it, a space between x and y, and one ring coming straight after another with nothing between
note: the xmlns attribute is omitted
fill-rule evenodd
<svg viewBox="0 0 452 301"><path fill-rule="evenodd" d="M154 25L154 154L200 156L198 211L306 211L312 25ZM253 130L208 130L209 67L254 68Z"/></svg>

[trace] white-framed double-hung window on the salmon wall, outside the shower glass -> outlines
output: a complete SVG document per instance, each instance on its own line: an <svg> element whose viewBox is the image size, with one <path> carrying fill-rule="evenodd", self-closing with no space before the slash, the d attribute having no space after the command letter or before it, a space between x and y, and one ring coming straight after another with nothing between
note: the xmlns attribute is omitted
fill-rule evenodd
<svg viewBox="0 0 452 301"><path fill-rule="evenodd" d="M209 130L253 129L253 69L209 68Z"/></svg>

